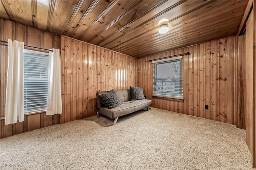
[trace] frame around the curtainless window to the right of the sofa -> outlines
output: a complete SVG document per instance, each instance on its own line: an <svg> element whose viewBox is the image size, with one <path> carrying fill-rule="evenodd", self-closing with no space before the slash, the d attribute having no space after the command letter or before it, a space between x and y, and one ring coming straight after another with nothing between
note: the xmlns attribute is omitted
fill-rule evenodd
<svg viewBox="0 0 256 170"><path fill-rule="evenodd" d="M155 80L155 66L157 63L164 63L167 61L174 61L174 60L179 60L181 59L182 61L182 96L172 96L172 95L163 95L163 94L155 94L154 91L154 80ZM174 101L178 101L178 102L184 102L184 60L182 56L178 56L178 57L170 57L168 59L160 59L160 60L156 60L156 61L152 61L153 65L153 95L152 98L157 98L157 99L163 99L163 100L174 100Z"/></svg>

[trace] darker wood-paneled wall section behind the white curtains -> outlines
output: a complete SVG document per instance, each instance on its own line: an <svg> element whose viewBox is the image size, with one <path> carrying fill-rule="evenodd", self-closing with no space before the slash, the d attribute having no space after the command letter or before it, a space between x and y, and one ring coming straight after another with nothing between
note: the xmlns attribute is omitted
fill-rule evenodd
<svg viewBox="0 0 256 170"><path fill-rule="evenodd" d="M20 23L0 19L1 40L8 39L23 41L24 45L40 47L45 49L60 49L60 36L41 31ZM6 94L6 74L8 64L8 48L1 45L0 53L0 117L5 117L5 94ZM0 120L0 138L14 134L40 129L60 123L60 115L48 116L46 112L34 115L26 115L23 122L5 125L5 119Z"/></svg>

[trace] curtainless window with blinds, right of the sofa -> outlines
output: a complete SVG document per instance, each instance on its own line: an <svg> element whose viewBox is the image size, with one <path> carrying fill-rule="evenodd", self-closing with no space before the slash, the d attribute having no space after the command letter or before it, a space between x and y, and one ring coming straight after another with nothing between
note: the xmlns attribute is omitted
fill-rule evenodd
<svg viewBox="0 0 256 170"><path fill-rule="evenodd" d="M154 64L153 97L183 100L182 57L152 62Z"/></svg>

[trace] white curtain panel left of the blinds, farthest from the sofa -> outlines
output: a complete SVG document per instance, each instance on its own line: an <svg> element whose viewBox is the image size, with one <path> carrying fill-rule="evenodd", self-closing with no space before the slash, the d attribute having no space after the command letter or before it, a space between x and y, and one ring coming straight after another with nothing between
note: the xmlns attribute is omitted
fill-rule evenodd
<svg viewBox="0 0 256 170"><path fill-rule="evenodd" d="M5 124L24 121L24 42L8 39L8 69L5 100Z"/></svg>

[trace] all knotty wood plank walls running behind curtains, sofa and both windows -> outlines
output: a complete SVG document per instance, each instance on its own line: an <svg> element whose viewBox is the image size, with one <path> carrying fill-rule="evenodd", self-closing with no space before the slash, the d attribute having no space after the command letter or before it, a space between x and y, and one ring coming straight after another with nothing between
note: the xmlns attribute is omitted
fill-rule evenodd
<svg viewBox="0 0 256 170"><path fill-rule="evenodd" d="M39 129L56 123L95 115L96 92L142 86L152 107L176 111L245 128L244 43L245 37L228 37L136 59L66 36L58 36L1 18L1 40L24 41L25 45L60 48L62 51L63 116L46 113L25 116L25 121L5 125L0 120L0 137ZM60 40L61 39L61 40ZM60 45L61 41L61 45ZM184 102L152 99L152 64L149 59L190 51L184 56ZM0 117L4 117L8 49L1 45ZM209 110L204 109L209 105Z"/></svg>

